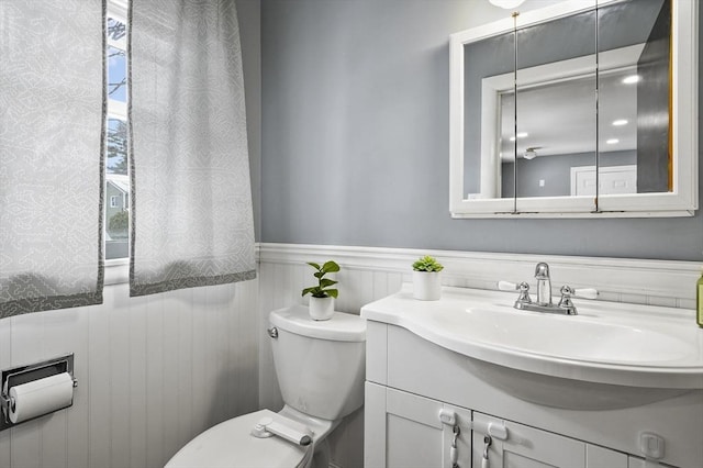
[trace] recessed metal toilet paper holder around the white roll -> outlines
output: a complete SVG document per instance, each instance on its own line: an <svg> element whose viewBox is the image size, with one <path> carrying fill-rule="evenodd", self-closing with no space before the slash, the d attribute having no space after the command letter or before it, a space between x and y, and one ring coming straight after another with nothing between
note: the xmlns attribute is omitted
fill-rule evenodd
<svg viewBox="0 0 703 468"><path fill-rule="evenodd" d="M74 388L78 387L78 380L74 377L74 355L55 357L43 360L41 363L18 366L11 369L0 371L0 431L15 426L10 421L10 389L14 386L31 382L33 380L44 379L46 377L56 376L68 372L74 381ZM71 402L72 404L72 402ZM68 406L66 406L68 408ZM37 416L40 417L40 416ZM19 423L21 424L21 423Z"/></svg>

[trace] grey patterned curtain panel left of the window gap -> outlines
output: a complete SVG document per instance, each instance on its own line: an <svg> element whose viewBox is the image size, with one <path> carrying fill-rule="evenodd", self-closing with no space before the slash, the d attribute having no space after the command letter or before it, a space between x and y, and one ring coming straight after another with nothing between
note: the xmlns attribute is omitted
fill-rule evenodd
<svg viewBox="0 0 703 468"><path fill-rule="evenodd" d="M0 0L0 319L102 302L102 0Z"/></svg>

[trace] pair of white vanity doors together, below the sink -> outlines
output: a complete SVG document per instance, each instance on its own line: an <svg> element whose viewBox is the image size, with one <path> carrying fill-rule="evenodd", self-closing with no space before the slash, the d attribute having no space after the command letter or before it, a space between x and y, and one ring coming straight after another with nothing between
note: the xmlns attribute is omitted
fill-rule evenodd
<svg viewBox="0 0 703 468"><path fill-rule="evenodd" d="M369 468L481 467L489 424L511 434L491 437L491 468L628 468L626 454L371 382L366 413L373 434L366 442ZM455 422L443 422L443 413Z"/></svg>

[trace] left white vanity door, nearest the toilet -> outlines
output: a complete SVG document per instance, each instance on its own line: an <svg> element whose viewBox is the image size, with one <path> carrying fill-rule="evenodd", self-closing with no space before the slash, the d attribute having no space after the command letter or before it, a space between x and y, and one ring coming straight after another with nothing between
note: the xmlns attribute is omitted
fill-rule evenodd
<svg viewBox="0 0 703 468"><path fill-rule="evenodd" d="M456 415L459 468L471 468L471 412L442 402L366 383L365 466L368 468L451 468L454 426L439 420Z"/></svg>

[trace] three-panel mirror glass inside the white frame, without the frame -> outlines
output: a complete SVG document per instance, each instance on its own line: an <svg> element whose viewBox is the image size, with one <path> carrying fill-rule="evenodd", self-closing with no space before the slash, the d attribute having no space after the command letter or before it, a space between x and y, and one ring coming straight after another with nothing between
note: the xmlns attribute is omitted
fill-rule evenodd
<svg viewBox="0 0 703 468"><path fill-rule="evenodd" d="M465 197L672 191L670 36L625 0L465 44Z"/></svg>

